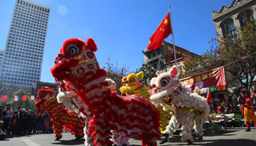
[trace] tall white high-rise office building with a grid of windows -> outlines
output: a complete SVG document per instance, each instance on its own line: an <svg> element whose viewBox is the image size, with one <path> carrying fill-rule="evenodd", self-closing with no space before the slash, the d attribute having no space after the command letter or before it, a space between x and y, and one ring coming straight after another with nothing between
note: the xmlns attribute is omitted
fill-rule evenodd
<svg viewBox="0 0 256 146"><path fill-rule="evenodd" d="M3 83L29 89L40 80L50 7L17 0L2 60Z"/></svg>

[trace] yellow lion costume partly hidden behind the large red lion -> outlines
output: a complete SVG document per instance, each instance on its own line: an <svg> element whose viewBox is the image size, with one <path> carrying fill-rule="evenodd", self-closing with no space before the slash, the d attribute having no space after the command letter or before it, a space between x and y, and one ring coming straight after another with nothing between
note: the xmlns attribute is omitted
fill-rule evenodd
<svg viewBox="0 0 256 146"><path fill-rule="evenodd" d="M121 93L126 93L126 95L139 94L139 96L150 99L150 90L143 85L143 71L139 71L138 74L129 74L127 77L122 78L120 91ZM160 130L163 133L168 125L170 115L168 111L163 111L160 104L157 105L157 108L160 114Z"/></svg>

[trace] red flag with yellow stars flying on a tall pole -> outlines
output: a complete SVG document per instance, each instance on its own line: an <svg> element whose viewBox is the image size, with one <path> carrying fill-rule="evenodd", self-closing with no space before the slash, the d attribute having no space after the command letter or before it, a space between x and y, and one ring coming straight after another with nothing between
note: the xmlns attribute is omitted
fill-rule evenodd
<svg viewBox="0 0 256 146"><path fill-rule="evenodd" d="M161 47L161 43L165 38L172 34L172 27L170 21L170 13L165 16L165 19L161 21L161 24L158 26L158 29L150 37L150 43L147 46L147 49L158 49Z"/></svg>

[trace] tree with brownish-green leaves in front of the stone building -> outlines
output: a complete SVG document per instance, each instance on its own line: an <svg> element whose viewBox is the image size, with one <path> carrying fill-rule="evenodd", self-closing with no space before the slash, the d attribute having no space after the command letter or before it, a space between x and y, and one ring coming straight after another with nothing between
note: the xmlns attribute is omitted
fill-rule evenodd
<svg viewBox="0 0 256 146"><path fill-rule="evenodd" d="M184 76L191 76L224 66L228 86L251 88L256 76L256 24L247 21L243 30L226 35L221 40L212 39L210 50L202 57L187 58L184 63Z"/></svg>

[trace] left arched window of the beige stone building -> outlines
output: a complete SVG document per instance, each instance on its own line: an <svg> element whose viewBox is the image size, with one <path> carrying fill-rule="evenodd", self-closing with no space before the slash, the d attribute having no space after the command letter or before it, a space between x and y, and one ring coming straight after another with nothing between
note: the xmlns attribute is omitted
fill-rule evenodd
<svg viewBox="0 0 256 146"><path fill-rule="evenodd" d="M224 38L226 35L230 35L232 38L236 38L236 27L232 19L226 20L221 27Z"/></svg>

